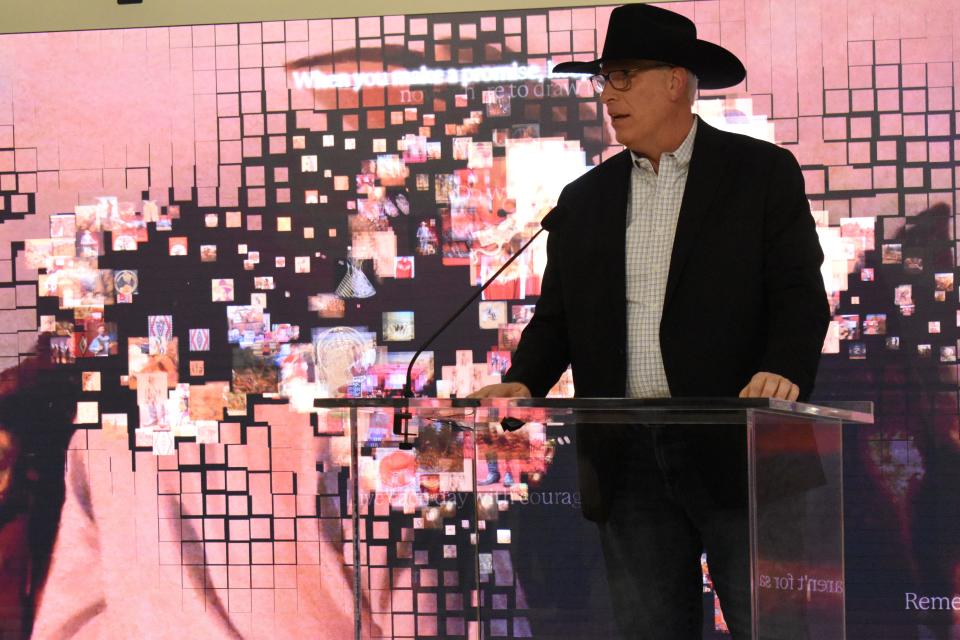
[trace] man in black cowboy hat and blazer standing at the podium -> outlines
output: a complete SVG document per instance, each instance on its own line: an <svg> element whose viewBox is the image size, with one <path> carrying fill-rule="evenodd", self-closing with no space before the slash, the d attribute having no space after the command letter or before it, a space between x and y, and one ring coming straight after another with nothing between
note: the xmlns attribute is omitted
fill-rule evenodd
<svg viewBox="0 0 960 640"><path fill-rule="evenodd" d="M829 321L823 253L793 155L710 127L697 87L740 83L734 54L687 18L631 4L586 73L626 149L567 185L541 296L502 384L544 396L810 394ZM735 425L582 428L584 514L600 528L627 638L699 638L700 555L734 638L750 636L746 444Z"/></svg>

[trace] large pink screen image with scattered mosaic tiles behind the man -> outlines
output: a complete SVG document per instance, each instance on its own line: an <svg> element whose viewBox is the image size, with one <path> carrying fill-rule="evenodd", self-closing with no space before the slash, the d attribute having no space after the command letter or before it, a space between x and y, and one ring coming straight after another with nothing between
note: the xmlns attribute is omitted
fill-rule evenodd
<svg viewBox="0 0 960 640"><path fill-rule="evenodd" d="M744 83L701 92L700 117L803 168L835 318L815 399L878 402L877 427L848 444L849 637L878 637L878 620L949 637L950 612L903 598L960 589L957 531L938 516L960 468L957 16L933 2L670 8L747 65ZM474 579L496 611L485 634L599 628L532 615L536 576L510 556L511 535L530 544L514 503L541 495L564 450L549 430L438 422L414 456L392 416L364 417L357 567L349 434L313 402L399 395L418 342L565 184L620 150L589 82L549 72L595 56L611 9L0 36L0 365L43 334L47 364L83 374L64 383L79 414L57 445L46 547L20 518L33 485L5 488L23 445L0 428L0 557L39 572L24 591L22 571L0 570L0 593L27 593L0 596L0 628L347 638L357 573L363 637L476 637ZM545 262L538 240L421 356L418 393L500 380ZM573 392L569 372L552 391ZM479 569L473 513L496 549ZM529 553L562 564L555 551Z"/></svg>

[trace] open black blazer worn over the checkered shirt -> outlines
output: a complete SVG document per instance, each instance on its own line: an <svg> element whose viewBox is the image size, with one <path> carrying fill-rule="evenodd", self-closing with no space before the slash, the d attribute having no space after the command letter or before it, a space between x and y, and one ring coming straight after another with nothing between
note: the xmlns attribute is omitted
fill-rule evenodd
<svg viewBox="0 0 960 640"><path fill-rule="evenodd" d="M603 162L568 184L543 219L541 295L504 376L534 396L568 365L578 396L625 395L631 167L626 150ZM793 154L700 120L660 323L671 396L736 397L753 374L771 371L808 398L829 322L822 262ZM604 468L617 462L596 431L579 446L603 491ZM729 455L704 444L711 459L744 456L739 444ZM589 516L590 491L581 489Z"/></svg>

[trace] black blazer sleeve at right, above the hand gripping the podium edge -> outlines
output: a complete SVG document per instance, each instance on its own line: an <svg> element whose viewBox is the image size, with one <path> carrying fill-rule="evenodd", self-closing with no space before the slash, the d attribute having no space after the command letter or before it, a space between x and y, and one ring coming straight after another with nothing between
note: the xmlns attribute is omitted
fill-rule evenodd
<svg viewBox="0 0 960 640"><path fill-rule="evenodd" d="M793 154L777 148L771 171L763 232L767 345L760 370L786 377L805 400L830 322L823 251Z"/></svg>

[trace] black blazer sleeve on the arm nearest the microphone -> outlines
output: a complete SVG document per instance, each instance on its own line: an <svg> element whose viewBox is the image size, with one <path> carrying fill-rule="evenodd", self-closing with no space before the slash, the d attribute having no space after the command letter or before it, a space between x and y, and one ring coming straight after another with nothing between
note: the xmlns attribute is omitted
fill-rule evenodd
<svg viewBox="0 0 960 640"><path fill-rule="evenodd" d="M560 196L563 201L563 195ZM533 318L523 330L520 343L503 376L504 382L522 382L534 397L547 395L570 364L567 318L563 305L560 239L564 210L557 205L543 219L547 230L547 266L543 271L540 298Z"/></svg>

